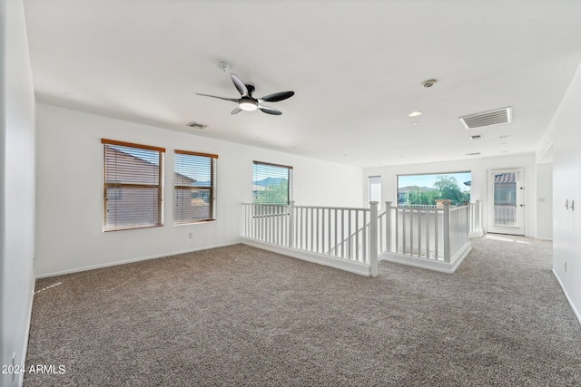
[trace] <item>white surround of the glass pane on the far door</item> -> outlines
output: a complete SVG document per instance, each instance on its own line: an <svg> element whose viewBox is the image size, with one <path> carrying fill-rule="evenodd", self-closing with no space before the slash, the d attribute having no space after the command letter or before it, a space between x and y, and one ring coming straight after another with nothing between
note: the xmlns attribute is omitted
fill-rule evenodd
<svg viewBox="0 0 581 387"><path fill-rule="evenodd" d="M517 226L494 224L494 175L499 173L517 173L516 214ZM487 170L487 232L497 234L525 235L525 169L506 168Z"/></svg>

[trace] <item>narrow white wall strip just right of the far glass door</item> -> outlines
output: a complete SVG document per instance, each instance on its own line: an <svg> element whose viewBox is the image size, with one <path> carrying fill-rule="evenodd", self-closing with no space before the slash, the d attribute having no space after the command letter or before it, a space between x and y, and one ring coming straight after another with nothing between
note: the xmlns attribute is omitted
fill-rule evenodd
<svg viewBox="0 0 581 387"><path fill-rule="evenodd" d="M553 163L537 164L537 238L553 239Z"/></svg>

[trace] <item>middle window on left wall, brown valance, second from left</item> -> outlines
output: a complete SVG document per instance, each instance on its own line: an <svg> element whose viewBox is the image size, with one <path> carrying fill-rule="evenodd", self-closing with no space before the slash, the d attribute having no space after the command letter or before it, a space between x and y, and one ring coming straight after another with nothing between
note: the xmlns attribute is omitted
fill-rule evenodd
<svg viewBox="0 0 581 387"><path fill-rule="evenodd" d="M216 219L218 155L175 150L173 162L173 223Z"/></svg>

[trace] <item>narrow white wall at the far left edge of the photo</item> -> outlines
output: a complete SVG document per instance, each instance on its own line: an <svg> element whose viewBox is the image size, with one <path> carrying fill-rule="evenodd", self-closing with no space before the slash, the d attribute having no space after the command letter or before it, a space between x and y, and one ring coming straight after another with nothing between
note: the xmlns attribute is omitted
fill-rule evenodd
<svg viewBox="0 0 581 387"><path fill-rule="evenodd" d="M25 363L34 292L34 90L22 0L0 5L0 364ZM0 373L0 385L22 374Z"/></svg>

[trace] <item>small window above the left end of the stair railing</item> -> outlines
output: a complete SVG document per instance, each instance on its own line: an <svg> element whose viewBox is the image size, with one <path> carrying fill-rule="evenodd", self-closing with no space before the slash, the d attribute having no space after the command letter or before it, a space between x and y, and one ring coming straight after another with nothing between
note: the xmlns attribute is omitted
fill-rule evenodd
<svg viewBox="0 0 581 387"><path fill-rule="evenodd" d="M252 203L288 205L292 200L292 167L254 161Z"/></svg>

